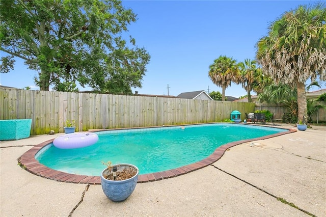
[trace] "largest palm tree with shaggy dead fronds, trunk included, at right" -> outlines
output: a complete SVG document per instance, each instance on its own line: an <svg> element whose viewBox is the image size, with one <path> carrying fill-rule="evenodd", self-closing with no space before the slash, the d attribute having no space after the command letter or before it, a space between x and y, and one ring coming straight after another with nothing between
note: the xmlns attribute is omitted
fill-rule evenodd
<svg viewBox="0 0 326 217"><path fill-rule="evenodd" d="M306 81L326 80L325 5L298 6L285 12L270 24L268 36L256 48L263 72L276 84L296 87L297 118L307 123Z"/></svg>

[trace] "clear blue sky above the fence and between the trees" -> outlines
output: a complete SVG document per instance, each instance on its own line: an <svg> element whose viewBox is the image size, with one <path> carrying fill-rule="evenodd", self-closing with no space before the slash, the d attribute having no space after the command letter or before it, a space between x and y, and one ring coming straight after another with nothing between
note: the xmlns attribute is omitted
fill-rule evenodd
<svg viewBox="0 0 326 217"><path fill-rule="evenodd" d="M255 59L257 41L267 35L270 22L299 5L315 1L122 1L125 8L137 14L138 20L128 26L128 34L144 47L151 60L142 80L139 94L172 95L222 88L211 82L209 65L221 55L237 62ZM5 55L1 52L0 55ZM16 59L15 69L0 73L3 86L35 86L36 71ZM309 82L308 82L309 83ZM325 88L325 82L322 83ZM169 87L169 88L168 88ZM82 88L80 91L91 90ZM312 88L310 91L319 90ZM247 94L241 85L231 84L226 96ZM251 95L256 95L252 92Z"/></svg>

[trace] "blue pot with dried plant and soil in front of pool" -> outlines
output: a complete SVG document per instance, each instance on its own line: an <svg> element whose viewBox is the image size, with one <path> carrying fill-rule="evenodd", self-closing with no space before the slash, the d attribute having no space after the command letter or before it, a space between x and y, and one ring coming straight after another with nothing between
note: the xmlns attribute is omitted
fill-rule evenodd
<svg viewBox="0 0 326 217"><path fill-rule="evenodd" d="M126 200L138 181L139 170L131 164L112 165L102 162L106 168L101 173L101 185L105 196L114 201Z"/></svg>

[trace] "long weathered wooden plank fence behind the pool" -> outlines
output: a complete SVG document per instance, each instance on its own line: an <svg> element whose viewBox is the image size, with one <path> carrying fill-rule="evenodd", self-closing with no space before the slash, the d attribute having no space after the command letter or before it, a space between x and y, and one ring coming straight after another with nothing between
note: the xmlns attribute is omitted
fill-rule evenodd
<svg viewBox="0 0 326 217"><path fill-rule="evenodd" d="M75 120L76 131L221 122L232 111L254 111L255 103L168 97L31 91L0 88L0 120L32 119L31 134L64 132Z"/></svg>

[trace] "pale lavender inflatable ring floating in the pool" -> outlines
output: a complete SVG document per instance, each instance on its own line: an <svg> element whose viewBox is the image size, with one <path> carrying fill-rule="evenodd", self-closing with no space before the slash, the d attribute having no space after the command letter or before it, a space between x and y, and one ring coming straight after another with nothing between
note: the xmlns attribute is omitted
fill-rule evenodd
<svg viewBox="0 0 326 217"><path fill-rule="evenodd" d="M94 145L98 135L94 132L77 132L60 135L53 140L53 145L60 149L84 148Z"/></svg>

